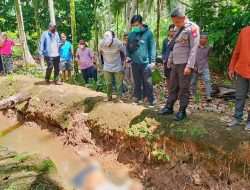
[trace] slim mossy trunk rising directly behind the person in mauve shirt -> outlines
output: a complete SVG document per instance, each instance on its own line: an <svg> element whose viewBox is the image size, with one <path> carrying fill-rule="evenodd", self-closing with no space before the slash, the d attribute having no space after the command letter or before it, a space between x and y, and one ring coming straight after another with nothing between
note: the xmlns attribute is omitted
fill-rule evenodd
<svg viewBox="0 0 250 190"><path fill-rule="evenodd" d="M76 14L75 14L75 0L70 0L70 17L71 17L71 35L72 35L72 51L73 55L76 53L76 45L77 45L77 36L76 36ZM78 74L78 65L74 61L74 70L75 73Z"/></svg>

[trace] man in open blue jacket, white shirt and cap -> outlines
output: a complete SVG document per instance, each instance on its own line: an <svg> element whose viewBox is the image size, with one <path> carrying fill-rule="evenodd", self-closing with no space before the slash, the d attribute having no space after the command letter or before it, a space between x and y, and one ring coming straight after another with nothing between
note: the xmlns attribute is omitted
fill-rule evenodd
<svg viewBox="0 0 250 190"><path fill-rule="evenodd" d="M43 32L40 42L39 54L44 56L47 62L45 74L46 84L50 84L50 75L54 68L54 84L58 85L60 63L60 37L56 31L56 23L51 22L47 31Z"/></svg>

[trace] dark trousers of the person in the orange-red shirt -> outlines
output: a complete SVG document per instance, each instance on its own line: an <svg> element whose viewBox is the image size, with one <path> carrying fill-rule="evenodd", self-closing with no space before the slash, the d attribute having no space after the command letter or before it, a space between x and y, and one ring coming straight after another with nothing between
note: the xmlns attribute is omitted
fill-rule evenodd
<svg viewBox="0 0 250 190"><path fill-rule="evenodd" d="M241 76L237 75L235 89L236 89L236 95L235 95L234 118L237 119L238 121L242 121L247 94L250 91L250 79L242 78ZM250 111L248 111L247 122L250 122Z"/></svg>

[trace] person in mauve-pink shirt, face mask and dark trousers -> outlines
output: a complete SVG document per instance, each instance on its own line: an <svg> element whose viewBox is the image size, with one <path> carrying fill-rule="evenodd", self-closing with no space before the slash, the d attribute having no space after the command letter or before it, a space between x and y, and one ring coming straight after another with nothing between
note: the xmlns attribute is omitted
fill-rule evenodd
<svg viewBox="0 0 250 190"><path fill-rule="evenodd" d="M76 61L82 72L84 84L89 85L89 79L93 78L97 82L97 69L94 66L94 53L87 47L84 40L79 41L79 47L76 51Z"/></svg>

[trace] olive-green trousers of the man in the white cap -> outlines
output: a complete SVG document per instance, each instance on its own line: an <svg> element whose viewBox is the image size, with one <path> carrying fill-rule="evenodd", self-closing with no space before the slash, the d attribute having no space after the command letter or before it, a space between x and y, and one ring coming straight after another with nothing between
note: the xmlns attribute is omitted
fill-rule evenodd
<svg viewBox="0 0 250 190"><path fill-rule="evenodd" d="M104 71L104 79L107 85L107 96L108 98L112 98L112 91L113 91L113 77L115 78L116 84L116 97L121 98L122 93L122 72L108 72Z"/></svg>

